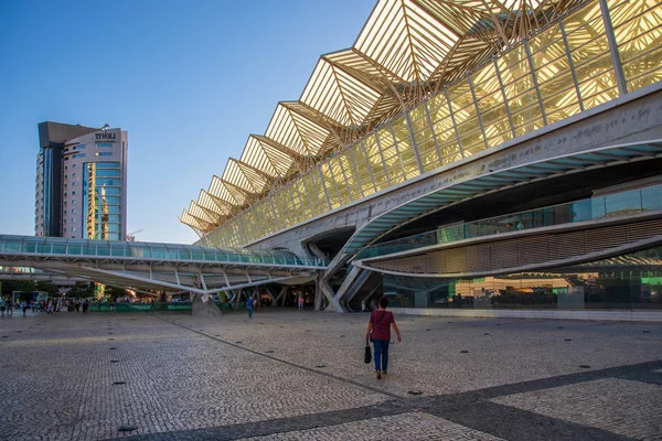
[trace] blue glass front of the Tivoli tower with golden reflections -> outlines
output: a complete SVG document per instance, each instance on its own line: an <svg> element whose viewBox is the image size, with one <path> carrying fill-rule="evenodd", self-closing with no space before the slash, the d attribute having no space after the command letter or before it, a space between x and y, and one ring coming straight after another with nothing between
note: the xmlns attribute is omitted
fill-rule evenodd
<svg viewBox="0 0 662 441"><path fill-rule="evenodd" d="M121 170L119 162L88 162L83 174L85 237L120 240Z"/></svg>

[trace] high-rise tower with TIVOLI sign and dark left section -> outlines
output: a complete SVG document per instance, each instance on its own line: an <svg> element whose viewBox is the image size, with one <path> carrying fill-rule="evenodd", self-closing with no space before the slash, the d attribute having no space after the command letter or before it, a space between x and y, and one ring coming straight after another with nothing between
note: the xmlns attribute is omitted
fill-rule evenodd
<svg viewBox="0 0 662 441"><path fill-rule="evenodd" d="M35 235L124 240L128 133L46 121L39 141Z"/></svg>

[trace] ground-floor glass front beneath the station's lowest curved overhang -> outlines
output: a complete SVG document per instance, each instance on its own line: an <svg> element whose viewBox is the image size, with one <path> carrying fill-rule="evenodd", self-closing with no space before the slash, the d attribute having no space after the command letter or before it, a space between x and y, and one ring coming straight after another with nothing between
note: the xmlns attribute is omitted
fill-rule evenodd
<svg viewBox="0 0 662 441"><path fill-rule="evenodd" d="M662 247L540 272L476 279L383 276L394 308L662 309Z"/></svg>

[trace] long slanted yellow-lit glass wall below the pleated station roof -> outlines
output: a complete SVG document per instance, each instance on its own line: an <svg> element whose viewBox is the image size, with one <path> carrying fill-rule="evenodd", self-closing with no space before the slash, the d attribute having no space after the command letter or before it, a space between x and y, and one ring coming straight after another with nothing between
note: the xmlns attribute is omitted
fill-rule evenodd
<svg viewBox="0 0 662 441"><path fill-rule="evenodd" d="M606 14L595 0L560 17L273 190L199 244L249 244L660 82L662 2L607 4ZM604 17L611 17L613 35L607 35ZM610 51L610 39L617 53ZM624 90L619 89L621 72Z"/></svg>

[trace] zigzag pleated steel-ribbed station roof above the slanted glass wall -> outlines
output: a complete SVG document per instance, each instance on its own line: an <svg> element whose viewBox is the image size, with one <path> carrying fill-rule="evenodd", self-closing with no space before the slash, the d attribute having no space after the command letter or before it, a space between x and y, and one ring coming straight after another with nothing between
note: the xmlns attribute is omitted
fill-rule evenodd
<svg viewBox="0 0 662 441"><path fill-rule="evenodd" d="M583 0L381 0L354 45L322 55L297 101L184 209L204 236Z"/></svg>

